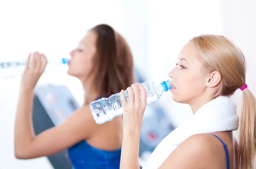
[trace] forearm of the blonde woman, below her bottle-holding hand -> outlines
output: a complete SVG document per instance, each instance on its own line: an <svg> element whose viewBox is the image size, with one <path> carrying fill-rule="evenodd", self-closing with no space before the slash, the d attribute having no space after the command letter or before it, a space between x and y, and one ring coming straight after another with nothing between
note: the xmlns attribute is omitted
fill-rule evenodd
<svg viewBox="0 0 256 169"><path fill-rule="evenodd" d="M123 133L120 169L139 169L140 133Z"/></svg>

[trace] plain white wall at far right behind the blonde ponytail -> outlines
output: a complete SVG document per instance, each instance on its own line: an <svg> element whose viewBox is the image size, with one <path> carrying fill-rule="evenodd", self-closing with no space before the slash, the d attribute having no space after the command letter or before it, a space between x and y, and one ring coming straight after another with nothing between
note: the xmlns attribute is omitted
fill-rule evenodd
<svg viewBox="0 0 256 169"><path fill-rule="evenodd" d="M246 83L256 95L256 1L224 1L224 35L232 39L244 53L247 62ZM237 90L233 96L237 110L241 114L242 92Z"/></svg>

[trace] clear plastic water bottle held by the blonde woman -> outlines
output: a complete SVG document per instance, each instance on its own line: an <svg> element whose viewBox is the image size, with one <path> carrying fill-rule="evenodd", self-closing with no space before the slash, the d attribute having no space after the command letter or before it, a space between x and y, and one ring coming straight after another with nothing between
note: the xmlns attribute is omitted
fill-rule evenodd
<svg viewBox="0 0 256 169"><path fill-rule="evenodd" d="M172 83L164 81L162 83L145 81L142 83L147 92L147 105L156 102L164 91L172 89ZM129 102L128 91L125 90L125 100ZM114 117L123 114L123 105L120 93L116 93L109 98L102 98L90 104L90 110L97 124L111 121Z"/></svg>

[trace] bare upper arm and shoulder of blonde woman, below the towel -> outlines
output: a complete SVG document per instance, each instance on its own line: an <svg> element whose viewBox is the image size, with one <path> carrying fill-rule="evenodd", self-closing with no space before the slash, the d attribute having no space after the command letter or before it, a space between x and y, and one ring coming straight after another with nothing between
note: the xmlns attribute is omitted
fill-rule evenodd
<svg viewBox="0 0 256 169"><path fill-rule="evenodd" d="M210 139L209 134L190 136L169 155L159 169L205 168L211 161Z"/></svg>

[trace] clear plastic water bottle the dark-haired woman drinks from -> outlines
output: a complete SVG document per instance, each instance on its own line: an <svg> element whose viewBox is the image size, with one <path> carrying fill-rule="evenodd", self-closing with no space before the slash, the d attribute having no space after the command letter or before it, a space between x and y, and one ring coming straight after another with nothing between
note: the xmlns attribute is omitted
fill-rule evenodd
<svg viewBox="0 0 256 169"><path fill-rule="evenodd" d="M67 58L61 58L53 62L48 62L45 72L51 71L57 68L59 65L64 65L69 62ZM30 63L31 64L31 63ZM26 62L12 61L12 62L0 62L0 79L9 79L15 76L22 75Z"/></svg>

